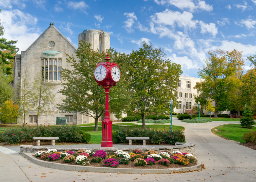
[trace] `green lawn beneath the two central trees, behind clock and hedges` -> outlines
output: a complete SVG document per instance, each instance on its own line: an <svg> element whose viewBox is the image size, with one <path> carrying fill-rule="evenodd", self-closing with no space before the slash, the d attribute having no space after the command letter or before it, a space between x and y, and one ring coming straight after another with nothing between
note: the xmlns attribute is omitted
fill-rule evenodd
<svg viewBox="0 0 256 182"><path fill-rule="evenodd" d="M147 125L147 126L150 126L150 128L158 128L158 129L169 129L170 126L168 125ZM138 125L138 126L129 126L130 128L133 128L133 127L141 127L142 128L142 125ZM182 126L173 126L173 129L185 129L184 127ZM83 131L88 131L89 134L91 134L92 138L91 138L91 141L90 143L91 144L101 144L101 127L98 127L98 130L99 131L92 131L93 130L93 127L83 127L83 128L80 128L80 130L83 130Z"/></svg>

